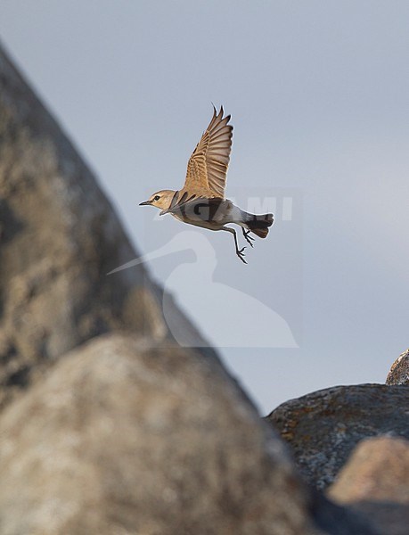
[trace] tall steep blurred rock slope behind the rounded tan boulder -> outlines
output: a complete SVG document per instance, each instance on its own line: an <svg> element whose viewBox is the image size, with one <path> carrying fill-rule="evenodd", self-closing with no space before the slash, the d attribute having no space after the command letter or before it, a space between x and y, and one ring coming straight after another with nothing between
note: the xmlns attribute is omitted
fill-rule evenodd
<svg viewBox="0 0 409 535"><path fill-rule="evenodd" d="M0 244L0 407L101 333L158 342L177 333L185 345L209 346L176 307L170 332L163 293L143 266L106 276L138 255L92 173L1 49Z"/></svg>

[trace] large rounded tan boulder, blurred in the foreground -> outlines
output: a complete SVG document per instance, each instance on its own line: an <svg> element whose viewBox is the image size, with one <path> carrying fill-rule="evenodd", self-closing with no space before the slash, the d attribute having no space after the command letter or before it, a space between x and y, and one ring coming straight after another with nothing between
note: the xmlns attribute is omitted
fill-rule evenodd
<svg viewBox="0 0 409 535"><path fill-rule="evenodd" d="M282 440L192 350L87 342L5 407L0 436L2 535L323 533Z"/></svg>

